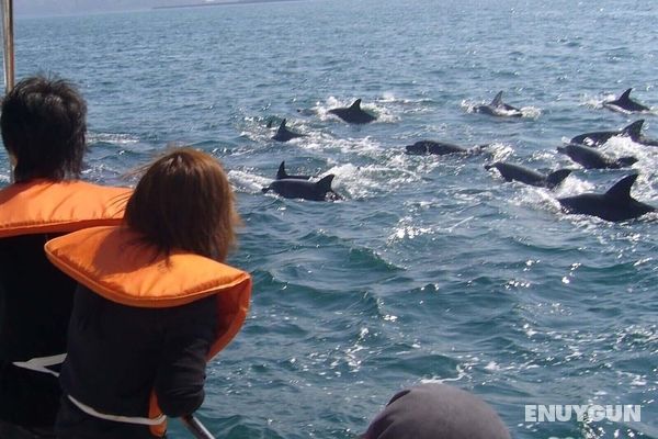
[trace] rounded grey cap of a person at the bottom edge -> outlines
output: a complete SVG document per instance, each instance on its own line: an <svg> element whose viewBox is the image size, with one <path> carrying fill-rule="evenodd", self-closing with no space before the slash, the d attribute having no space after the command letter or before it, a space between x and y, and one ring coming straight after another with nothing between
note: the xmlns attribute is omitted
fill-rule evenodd
<svg viewBox="0 0 658 439"><path fill-rule="evenodd" d="M362 439L510 439L498 414L463 390L423 383L398 392Z"/></svg>

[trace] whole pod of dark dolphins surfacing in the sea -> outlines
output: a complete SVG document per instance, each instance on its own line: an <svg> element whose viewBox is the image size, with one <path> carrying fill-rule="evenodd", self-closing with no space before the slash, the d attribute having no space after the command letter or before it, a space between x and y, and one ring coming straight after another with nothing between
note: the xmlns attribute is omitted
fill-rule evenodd
<svg viewBox="0 0 658 439"><path fill-rule="evenodd" d="M650 111L648 106L631 98L632 90L627 89L617 99L603 102L603 106L626 114ZM502 101L502 91L498 92L489 104L476 105L472 109L472 112L497 117L520 117L523 115L521 109ZM361 99L356 99L350 106L331 109L329 113L350 124L366 124L376 120L375 115L370 114L361 108ZM637 162L635 157L613 158L604 155L597 147L605 144L610 138L615 136L628 137L634 143L642 145L658 146L658 140L647 138L642 134L643 124L644 120L638 120L617 131L580 134L572 137L567 145L557 147L557 150L587 169L619 169L629 167ZM270 125L268 124L268 127ZM286 127L286 120L284 119L272 139L287 142L304 136L306 134L290 131ZM465 148L445 142L419 140L412 145L407 145L405 149L406 154L411 155L474 155L486 150L487 147L488 145L476 145L472 148ZM485 169L496 169L507 181L520 181L525 184L547 189L554 189L559 185L571 172L570 169L559 169L548 175L543 175L521 165L501 161L487 164L485 165ZM637 218L646 213L656 211L656 207L631 196L631 189L637 177L637 173L628 175L614 183L604 193L582 193L557 200L566 213L593 215L611 222ZM273 191L287 199L310 201L341 200L342 198L331 189L333 178L333 175L328 175L319 181L314 182L311 181L311 176L288 175L285 170L285 162L281 162L276 179L270 185L263 188L262 191Z"/></svg>

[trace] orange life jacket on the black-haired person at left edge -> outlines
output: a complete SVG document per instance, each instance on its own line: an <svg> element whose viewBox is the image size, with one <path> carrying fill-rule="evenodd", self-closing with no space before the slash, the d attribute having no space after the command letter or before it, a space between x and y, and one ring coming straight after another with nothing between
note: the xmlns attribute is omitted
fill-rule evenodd
<svg viewBox="0 0 658 439"><path fill-rule="evenodd" d="M0 190L0 238L114 225L132 189L80 180L33 180Z"/></svg>

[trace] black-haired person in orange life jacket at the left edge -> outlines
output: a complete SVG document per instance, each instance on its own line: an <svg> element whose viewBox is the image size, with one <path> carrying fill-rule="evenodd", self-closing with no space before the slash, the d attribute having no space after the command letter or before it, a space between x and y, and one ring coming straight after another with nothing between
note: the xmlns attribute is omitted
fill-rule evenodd
<svg viewBox="0 0 658 439"><path fill-rule="evenodd" d="M44 244L118 224L131 190L80 180L87 103L70 82L23 79L1 111L12 182L0 190L0 437L49 438L76 282L48 262Z"/></svg>

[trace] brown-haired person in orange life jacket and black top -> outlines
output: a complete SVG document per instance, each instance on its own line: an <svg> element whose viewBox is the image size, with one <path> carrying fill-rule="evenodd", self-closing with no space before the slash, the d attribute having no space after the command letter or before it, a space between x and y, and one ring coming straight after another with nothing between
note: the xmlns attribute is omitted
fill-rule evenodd
<svg viewBox="0 0 658 439"><path fill-rule="evenodd" d="M226 266L238 224L219 162L191 148L156 160L125 223L56 238L53 263L79 282L56 432L154 438L196 410L206 361L242 326L251 278Z"/></svg>

